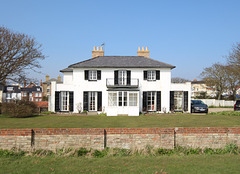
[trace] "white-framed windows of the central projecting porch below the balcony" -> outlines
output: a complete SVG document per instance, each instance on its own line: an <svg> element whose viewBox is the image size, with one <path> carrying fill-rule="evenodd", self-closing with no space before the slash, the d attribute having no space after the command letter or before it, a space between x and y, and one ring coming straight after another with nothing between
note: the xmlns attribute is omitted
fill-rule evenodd
<svg viewBox="0 0 240 174"><path fill-rule="evenodd" d="M108 92L108 106L138 106L138 92L110 91Z"/></svg>

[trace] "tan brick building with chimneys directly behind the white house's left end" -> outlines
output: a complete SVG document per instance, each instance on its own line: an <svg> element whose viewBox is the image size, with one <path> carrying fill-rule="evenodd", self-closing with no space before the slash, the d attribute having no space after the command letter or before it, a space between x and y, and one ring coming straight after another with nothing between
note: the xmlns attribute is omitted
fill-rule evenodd
<svg viewBox="0 0 240 174"><path fill-rule="evenodd" d="M62 83L61 76L58 75L57 79L55 79L55 78L49 79L49 75L46 75L45 82L41 83L44 97L48 97L51 95L51 82L52 81L55 81L56 83Z"/></svg>

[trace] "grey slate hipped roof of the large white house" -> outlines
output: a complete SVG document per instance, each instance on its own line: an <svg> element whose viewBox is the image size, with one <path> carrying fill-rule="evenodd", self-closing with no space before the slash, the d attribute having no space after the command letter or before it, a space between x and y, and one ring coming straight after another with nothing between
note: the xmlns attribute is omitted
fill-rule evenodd
<svg viewBox="0 0 240 174"><path fill-rule="evenodd" d="M82 62L78 62L61 70L72 72L72 68L175 68L175 66L163 63L143 56L99 56Z"/></svg>

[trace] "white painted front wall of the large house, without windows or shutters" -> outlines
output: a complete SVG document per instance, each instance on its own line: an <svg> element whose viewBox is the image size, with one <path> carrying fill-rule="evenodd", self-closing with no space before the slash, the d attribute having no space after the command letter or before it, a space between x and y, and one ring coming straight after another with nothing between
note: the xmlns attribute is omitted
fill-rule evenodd
<svg viewBox="0 0 240 174"><path fill-rule="evenodd" d="M84 80L84 70L101 70L101 80L98 81L88 81ZM55 91L74 91L74 112L77 113L77 105L81 103L83 107L83 92L84 91L102 91L102 107L108 115L116 115L114 113L118 112L116 108L108 107L108 88L106 86L106 79L114 79L115 70L131 70L131 78L139 79L139 107L126 107L125 110L121 112L128 115L138 115L142 111L142 95L143 91L161 91L161 107L169 111L170 105L170 90L171 89L184 89L186 91L186 86L176 86L171 84L171 69L170 68L74 68L73 72L64 72L63 84L56 84L52 82L52 96L51 101L55 100ZM145 70L160 70L160 80L157 81L147 81L143 80L143 71ZM191 83L190 90L191 91ZM189 93L189 96L191 94ZM51 102L51 111L54 111L55 104ZM118 108L119 109L119 108Z"/></svg>

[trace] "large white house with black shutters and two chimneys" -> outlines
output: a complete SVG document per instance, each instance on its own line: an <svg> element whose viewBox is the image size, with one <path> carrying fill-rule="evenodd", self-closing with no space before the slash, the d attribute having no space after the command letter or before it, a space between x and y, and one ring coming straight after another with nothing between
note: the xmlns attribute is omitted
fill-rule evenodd
<svg viewBox="0 0 240 174"><path fill-rule="evenodd" d="M102 47L94 47L91 59L61 70L63 83L52 82L49 110L108 116L190 112L191 83L171 84L175 66L149 58L147 47L137 53L104 56Z"/></svg>

